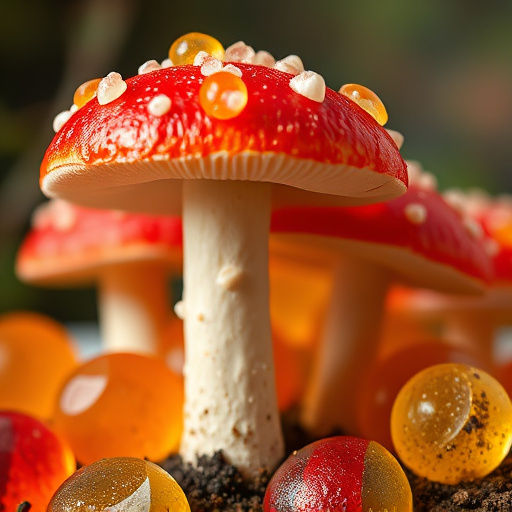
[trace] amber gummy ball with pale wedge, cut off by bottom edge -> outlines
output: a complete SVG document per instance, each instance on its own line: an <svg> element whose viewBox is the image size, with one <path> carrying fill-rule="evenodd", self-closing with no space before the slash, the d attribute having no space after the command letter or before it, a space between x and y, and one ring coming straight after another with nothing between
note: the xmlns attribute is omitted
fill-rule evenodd
<svg viewBox="0 0 512 512"><path fill-rule="evenodd" d="M48 512L190 512L181 487L152 462L131 457L103 459L64 482Z"/></svg>

